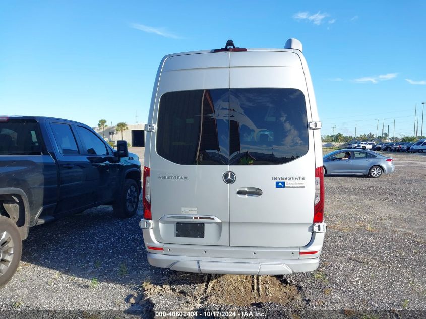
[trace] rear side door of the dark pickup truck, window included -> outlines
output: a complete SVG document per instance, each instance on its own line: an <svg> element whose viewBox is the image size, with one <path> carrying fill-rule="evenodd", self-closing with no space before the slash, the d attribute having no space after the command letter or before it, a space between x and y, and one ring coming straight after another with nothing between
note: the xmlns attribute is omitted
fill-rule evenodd
<svg viewBox="0 0 426 319"><path fill-rule="evenodd" d="M59 170L58 213L81 209L92 202L95 189L88 178L91 165L82 159L73 125L60 120L50 122Z"/></svg>

